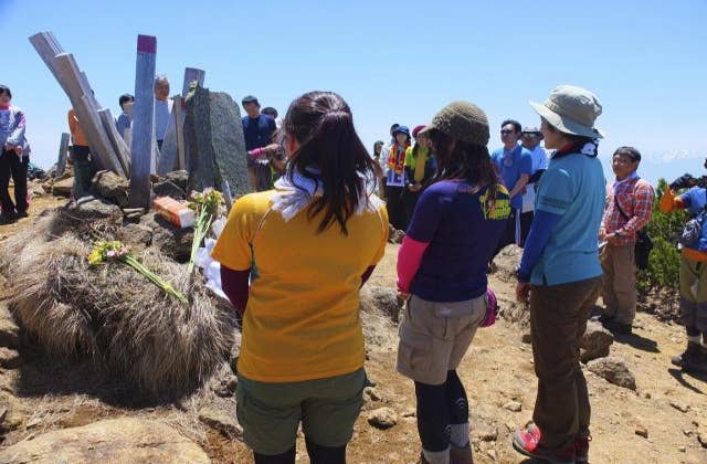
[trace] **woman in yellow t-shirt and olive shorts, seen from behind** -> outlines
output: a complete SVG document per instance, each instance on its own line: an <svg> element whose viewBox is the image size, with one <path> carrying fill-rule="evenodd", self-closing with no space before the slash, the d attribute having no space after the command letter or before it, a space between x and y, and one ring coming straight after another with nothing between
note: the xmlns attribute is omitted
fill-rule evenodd
<svg viewBox="0 0 707 464"><path fill-rule="evenodd" d="M312 92L283 123L287 172L234 204L213 257L243 314L238 418L255 463L345 463L366 382L359 288L386 250L367 191L379 167L337 94ZM250 289L249 289L250 278Z"/></svg>

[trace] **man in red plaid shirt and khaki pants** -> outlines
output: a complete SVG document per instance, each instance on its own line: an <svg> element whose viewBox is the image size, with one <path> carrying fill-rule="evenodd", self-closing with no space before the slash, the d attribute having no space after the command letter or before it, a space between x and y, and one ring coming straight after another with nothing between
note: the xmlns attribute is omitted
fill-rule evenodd
<svg viewBox="0 0 707 464"><path fill-rule="evenodd" d="M614 334L630 335L636 315L636 268L634 250L637 233L651 220L655 193L653 187L636 173L641 154L633 147L619 148L612 159L616 175L608 188L604 217L599 230L605 242L600 259L603 270L600 318Z"/></svg>

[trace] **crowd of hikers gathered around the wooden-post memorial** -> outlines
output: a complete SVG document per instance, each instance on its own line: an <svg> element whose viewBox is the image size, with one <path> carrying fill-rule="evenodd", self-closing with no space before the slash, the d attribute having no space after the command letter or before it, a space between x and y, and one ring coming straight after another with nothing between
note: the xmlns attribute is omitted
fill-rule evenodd
<svg viewBox="0 0 707 464"><path fill-rule="evenodd" d="M155 97L160 144L171 105L165 77L156 80ZM3 220L27 215L28 208L30 147L24 114L11 98L0 85ZM134 101L119 98L122 135L130 129ZM599 320L631 336L635 260L655 200L637 173L636 148L613 152L615 179L606 182L598 159L599 98L558 86L545 103L531 103L539 127L504 120L502 146L490 152L484 110L454 102L412 130L392 125L372 156L338 94L304 94L282 120L272 107L261 110L254 96L242 105L256 193L238 199L213 257L242 317L236 413L255 462L294 463L299 424L313 463L346 462L368 382L359 289L384 254L390 225L407 231L397 266L404 302L397 370L413 382L420 462L473 462L456 369L476 330L495 321L487 275L509 244L523 247L516 296L529 305L538 377L532 423L515 433L513 445L546 462L588 462L581 337L600 295ZM68 124L81 196L95 166L73 110ZM693 372L707 372L706 184L684 176L659 199L662 211L686 209L693 218L680 238L687 348L673 358ZM296 245L278 246L285 241Z"/></svg>

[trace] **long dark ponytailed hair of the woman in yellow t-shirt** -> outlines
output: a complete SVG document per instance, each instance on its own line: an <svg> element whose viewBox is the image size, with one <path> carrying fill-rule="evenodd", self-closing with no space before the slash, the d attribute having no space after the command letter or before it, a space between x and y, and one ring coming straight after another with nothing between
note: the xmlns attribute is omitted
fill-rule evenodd
<svg viewBox="0 0 707 464"><path fill-rule="evenodd" d="M338 223L341 233L348 234L347 221L368 198L366 179L381 175L356 134L349 105L334 92L306 93L289 105L283 129L299 143L289 159L287 179L295 183L297 171L323 188L308 218L324 211L318 232Z"/></svg>

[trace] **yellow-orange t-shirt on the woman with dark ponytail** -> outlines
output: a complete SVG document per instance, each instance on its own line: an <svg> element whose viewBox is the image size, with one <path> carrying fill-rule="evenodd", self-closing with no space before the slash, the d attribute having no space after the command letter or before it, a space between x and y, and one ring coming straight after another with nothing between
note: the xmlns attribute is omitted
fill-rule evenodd
<svg viewBox="0 0 707 464"><path fill-rule="evenodd" d="M264 382L354 372L365 360L361 275L386 251L388 214L351 217L348 235L337 224L317 233L321 214L285 222L270 210L273 193L239 199L212 252L229 268L252 270L239 372Z"/></svg>

